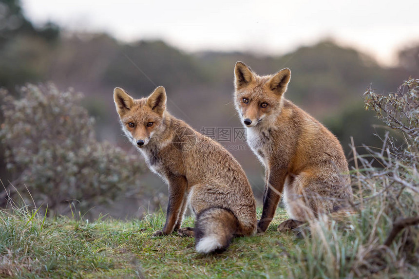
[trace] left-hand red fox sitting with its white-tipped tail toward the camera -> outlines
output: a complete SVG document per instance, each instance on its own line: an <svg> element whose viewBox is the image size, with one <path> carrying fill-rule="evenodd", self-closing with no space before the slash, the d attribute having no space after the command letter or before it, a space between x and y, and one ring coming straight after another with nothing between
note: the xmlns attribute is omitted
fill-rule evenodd
<svg viewBox="0 0 419 279"><path fill-rule="evenodd" d="M122 130L148 167L169 185L166 223L153 236L177 231L195 237L199 253L225 250L234 236L256 233L256 203L245 172L220 144L166 110L166 91L133 99L114 89ZM181 228L190 205L195 228Z"/></svg>

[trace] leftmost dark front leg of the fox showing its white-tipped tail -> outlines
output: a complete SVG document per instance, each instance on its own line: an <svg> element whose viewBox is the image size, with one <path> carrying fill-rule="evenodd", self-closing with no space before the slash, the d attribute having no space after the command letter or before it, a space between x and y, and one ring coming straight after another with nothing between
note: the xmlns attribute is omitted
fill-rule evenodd
<svg viewBox="0 0 419 279"><path fill-rule="evenodd" d="M186 188L185 177L175 176L169 179L169 204L167 205L166 223L162 230L156 231L152 236L168 235L174 230L182 208Z"/></svg>

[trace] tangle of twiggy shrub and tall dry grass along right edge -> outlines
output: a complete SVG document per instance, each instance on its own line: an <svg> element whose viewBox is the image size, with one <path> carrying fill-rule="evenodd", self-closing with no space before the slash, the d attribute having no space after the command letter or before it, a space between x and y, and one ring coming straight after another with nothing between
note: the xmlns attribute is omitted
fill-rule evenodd
<svg viewBox="0 0 419 279"><path fill-rule="evenodd" d="M367 155L352 147L358 214L344 224L327 216L309 222L310 237L296 247L289 277L419 277L419 79L396 93L368 89L364 95L366 109L404 140L400 144L387 132L381 148L363 146Z"/></svg>

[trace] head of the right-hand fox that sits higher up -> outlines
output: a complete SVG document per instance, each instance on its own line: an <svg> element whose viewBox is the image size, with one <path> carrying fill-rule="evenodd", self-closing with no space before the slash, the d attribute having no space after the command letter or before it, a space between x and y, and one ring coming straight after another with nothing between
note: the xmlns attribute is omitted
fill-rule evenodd
<svg viewBox="0 0 419 279"><path fill-rule="evenodd" d="M259 76L243 62L237 62L234 75L234 103L243 123L254 127L262 121L274 121L281 112L291 71L285 68L273 75Z"/></svg>

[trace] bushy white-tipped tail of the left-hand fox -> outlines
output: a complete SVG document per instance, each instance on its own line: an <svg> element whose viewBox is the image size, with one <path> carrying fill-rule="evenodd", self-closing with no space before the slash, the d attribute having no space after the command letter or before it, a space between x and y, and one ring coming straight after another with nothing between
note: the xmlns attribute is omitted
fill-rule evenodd
<svg viewBox="0 0 419 279"><path fill-rule="evenodd" d="M195 249L198 253L222 252L229 247L239 222L234 213L224 207L201 211L195 222Z"/></svg>

